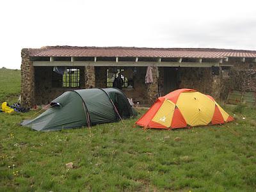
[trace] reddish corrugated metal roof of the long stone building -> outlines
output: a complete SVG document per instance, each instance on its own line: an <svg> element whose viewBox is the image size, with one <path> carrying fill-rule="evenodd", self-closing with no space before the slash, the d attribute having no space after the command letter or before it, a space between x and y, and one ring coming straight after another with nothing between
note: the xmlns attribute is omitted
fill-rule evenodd
<svg viewBox="0 0 256 192"><path fill-rule="evenodd" d="M39 57L149 57L149 58L256 58L256 51L209 48L138 48L138 47L69 47L54 46L29 49Z"/></svg>

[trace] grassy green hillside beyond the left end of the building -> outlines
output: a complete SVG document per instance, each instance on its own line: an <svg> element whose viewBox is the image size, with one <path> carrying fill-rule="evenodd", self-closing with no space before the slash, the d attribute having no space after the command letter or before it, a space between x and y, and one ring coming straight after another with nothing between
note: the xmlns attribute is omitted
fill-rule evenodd
<svg viewBox="0 0 256 192"><path fill-rule="evenodd" d="M20 70L0 68L0 105L17 102L20 95Z"/></svg>

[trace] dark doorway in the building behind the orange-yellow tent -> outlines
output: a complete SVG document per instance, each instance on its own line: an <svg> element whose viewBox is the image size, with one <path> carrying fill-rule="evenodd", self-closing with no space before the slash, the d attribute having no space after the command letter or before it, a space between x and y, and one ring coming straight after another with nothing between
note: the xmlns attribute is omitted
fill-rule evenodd
<svg viewBox="0 0 256 192"><path fill-rule="evenodd" d="M178 84L178 68L164 67L164 95L179 88Z"/></svg>

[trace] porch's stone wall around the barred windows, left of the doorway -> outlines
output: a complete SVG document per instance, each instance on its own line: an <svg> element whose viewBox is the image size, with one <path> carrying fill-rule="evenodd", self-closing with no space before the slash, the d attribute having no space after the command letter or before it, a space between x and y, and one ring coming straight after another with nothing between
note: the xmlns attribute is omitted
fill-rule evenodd
<svg viewBox="0 0 256 192"><path fill-rule="evenodd" d="M106 88L107 68L108 67L79 67L80 88ZM134 87L132 89L124 88L122 90L127 97L143 105L152 103L157 99L156 68L152 70L155 80L154 83L145 84L146 71L147 67L136 67ZM87 73L87 75L85 73ZM33 81L35 92L33 97L32 95L29 97L29 99L34 100L33 104L49 104L51 100L61 95L61 93L77 89L62 88L61 84L56 84L56 80L58 79L61 80L62 76L53 72L52 67L35 67L35 80Z"/></svg>

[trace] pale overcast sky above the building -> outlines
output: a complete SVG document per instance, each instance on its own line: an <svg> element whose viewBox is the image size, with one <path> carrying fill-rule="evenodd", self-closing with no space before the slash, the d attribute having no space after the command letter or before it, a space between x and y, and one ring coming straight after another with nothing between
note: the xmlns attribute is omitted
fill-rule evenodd
<svg viewBox="0 0 256 192"><path fill-rule="evenodd" d="M46 45L256 50L256 1L0 1L0 67Z"/></svg>

